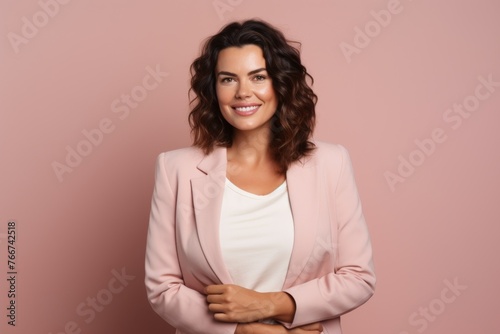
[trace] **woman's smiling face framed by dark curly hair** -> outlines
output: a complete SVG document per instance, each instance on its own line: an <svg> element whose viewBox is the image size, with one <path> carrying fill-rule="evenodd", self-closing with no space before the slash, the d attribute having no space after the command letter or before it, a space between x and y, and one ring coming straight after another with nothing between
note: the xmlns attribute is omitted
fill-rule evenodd
<svg viewBox="0 0 500 334"><path fill-rule="evenodd" d="M278 107L262 49L249 44L219 52L216 92L222 116L237 131L269 129Z"/></svg>

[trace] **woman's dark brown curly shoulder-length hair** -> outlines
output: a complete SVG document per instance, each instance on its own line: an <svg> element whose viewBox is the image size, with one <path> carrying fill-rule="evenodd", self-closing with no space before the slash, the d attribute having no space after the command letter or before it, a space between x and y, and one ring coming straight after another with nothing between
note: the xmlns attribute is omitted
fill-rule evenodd
<svg viewBox="0 0 500 334"><path fill-rule="evenodd" d="M190 100L193 108L189 125L193 145L205 154L215 146L230 147L233 127L224 119L215 91L215 68L219 52L228 47L253 44L262 49L266 70L278 100L278 108L271 120L270 149L279 171L310 153L314 144L309 140L314 130L317 96L307 80L312 76L300 61L300 51L292 46L283 33L272 25L258 20L233 22L208 38L201 55L191 64ZM191 95L190 95L191 96Z"/></svg>

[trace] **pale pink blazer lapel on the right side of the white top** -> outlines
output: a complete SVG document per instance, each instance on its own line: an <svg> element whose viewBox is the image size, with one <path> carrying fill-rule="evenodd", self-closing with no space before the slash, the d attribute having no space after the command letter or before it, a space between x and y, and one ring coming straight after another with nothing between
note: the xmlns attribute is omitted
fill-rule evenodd
<svg viewBox="0 0 500 334"><path fill-rule="evenodd" d="M293 285L306 269L317 235L319 199L315 160L295 162L287 171L287 186L294 222L294 245L283 288Z"/></svg>

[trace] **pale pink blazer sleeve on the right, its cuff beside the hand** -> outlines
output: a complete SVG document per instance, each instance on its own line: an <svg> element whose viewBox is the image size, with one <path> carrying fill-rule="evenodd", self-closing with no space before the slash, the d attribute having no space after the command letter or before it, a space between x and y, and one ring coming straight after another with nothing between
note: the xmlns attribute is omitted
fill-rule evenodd
<svg viewBox="0 0 500 334"><path fill-rule="evenodd" d="M365 303L375 289L371 241L351 160L347 150L338 147L340 173L337 180L329 180L330 212L337 222L337 228L332 231L332 240L336 243L332 245L336 248L334 270L285 290L296 303L295 317L287 327L339 317Z"/></svg>

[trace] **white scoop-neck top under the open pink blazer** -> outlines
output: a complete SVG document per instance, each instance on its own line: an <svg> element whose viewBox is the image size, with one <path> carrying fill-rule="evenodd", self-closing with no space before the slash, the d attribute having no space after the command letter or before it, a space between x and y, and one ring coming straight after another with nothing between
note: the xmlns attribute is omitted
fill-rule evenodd
<svg viewBox="0 0 500 334"><path fill-rule="evenodd" d="M255 195L226 179L220 242L234 284L259 292L281 291L293 236L286 181L270 194Z"/></svg>

